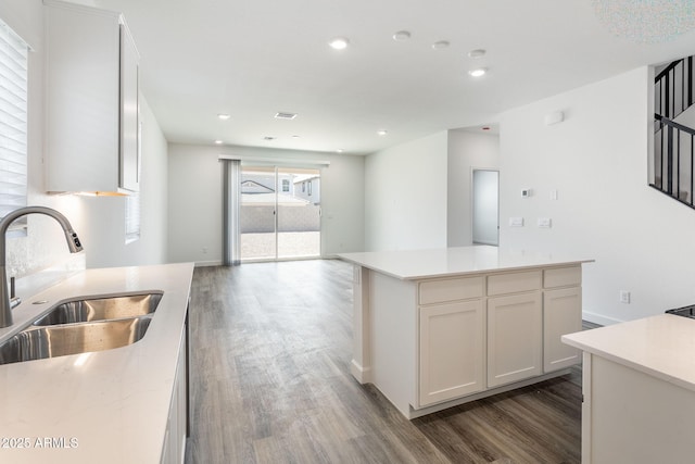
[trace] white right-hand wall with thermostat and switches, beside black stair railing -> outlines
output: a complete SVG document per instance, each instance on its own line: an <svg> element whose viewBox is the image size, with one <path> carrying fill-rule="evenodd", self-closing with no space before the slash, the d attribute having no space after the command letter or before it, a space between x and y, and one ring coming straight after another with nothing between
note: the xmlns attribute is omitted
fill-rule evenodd
<svg viewBox="0 0 695 464"><path fill-rule="evenodd" d="M695 303L695 211L647 186L650 74L634 70L501 120L501 246L595 259L584 265L583 308L602 324ZM555 111L565 122L546 126ZM534 195L521 198L522 188ZM526 225L509 227L510 216Z"/></svg>

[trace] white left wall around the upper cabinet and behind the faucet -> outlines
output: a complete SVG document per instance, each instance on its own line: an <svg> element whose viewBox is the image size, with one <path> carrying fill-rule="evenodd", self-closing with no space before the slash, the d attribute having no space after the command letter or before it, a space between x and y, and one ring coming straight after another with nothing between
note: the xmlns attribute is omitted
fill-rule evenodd
<svg viewBox="0 0 695 464"><path fill-rule="evenodd" d="M80 3L91 4L89 1ZM154 116L143 105L142 239L125 246L123 199L48 196L43 173L43 5L41 0L3 0L0 17L28 41L28 204L46 205L67 216L85 247L88 267L137 265L166 259L166 143ZM8 274L33 276L72 258L60 227L49 217L28 217L28 236L8 240ZM81 266L85 260L81 260Z"/></svg>

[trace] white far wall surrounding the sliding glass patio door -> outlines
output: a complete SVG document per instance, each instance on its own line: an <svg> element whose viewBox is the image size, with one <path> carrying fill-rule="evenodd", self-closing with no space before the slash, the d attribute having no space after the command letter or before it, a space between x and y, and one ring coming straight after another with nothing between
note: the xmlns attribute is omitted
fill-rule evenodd
<svg viewBox="0 0 695 464"><path fill-rule="evenodd" d="M329 161L321 167L321 254L364 249L364 158L248 147L169 145L169 261L222 262L220 154Z"/></svg>

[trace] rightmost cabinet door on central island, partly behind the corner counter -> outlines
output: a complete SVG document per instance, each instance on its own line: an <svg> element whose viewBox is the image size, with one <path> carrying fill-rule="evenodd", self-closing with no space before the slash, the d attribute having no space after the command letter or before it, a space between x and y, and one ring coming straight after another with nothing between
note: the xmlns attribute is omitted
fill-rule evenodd
<svg viewBox="0 0 695 464"><path fill-rule="evenodd" d="M543 293L543 371L551 372L581 362L581 351L560 337L582 329L582 289L569 287Z"/></svg>

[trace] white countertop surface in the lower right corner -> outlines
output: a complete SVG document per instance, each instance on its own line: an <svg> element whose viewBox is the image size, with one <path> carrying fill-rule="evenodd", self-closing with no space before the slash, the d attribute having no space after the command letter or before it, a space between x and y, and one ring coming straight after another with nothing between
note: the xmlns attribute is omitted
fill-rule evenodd
<svg viewBox="0 0 695 464"><path fill-rule="evenodd" d="M592 354L695 391L695 319L659 314L563 336Z"/></svg>

